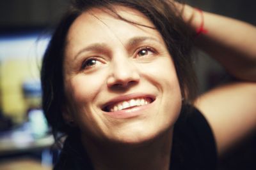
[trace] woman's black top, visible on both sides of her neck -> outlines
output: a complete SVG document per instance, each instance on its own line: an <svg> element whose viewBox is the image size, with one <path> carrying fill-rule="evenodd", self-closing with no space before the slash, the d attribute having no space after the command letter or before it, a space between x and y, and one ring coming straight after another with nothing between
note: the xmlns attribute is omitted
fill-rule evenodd
<svg viewBox="0 0 256 170"><path fill-rule="evenodd" d="M214 137L202 113L183 107L175 123L171 170L216 169L217 153ZM93 169L81 141L70 136L65 141L54 170Z"/></svg>

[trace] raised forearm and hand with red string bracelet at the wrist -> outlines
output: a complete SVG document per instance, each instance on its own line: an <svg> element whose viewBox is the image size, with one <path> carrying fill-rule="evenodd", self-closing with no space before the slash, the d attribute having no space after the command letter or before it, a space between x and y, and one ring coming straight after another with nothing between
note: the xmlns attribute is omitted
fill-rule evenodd
<svg viewBox="0 0 256 170"><path fill-rule="evenodd" d="M207 32L196 36L198 48L218 60L236 78L256 81L256 27L212 13L200 13L188 5L183 15L195 34L204 19Z"/></svg>

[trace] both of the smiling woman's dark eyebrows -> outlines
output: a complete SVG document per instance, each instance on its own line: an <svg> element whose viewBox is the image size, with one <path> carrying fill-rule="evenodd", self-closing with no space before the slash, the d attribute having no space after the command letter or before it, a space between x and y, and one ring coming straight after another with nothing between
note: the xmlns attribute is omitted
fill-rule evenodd
<svg viewBox="0 0 256 170"><path fill-rule="evenodd" d="M127 43L125 43L125 46L131 48L133 46L139 45L143 41L156 41L157 43L161 43L161 41L159 41L159 39L157 39L157 38L148 37L148 36L138 36L138 37L129 39L129 41ZM85 48L83 48L79 52L77 52L74 59L76 60L77 57L83 52L88 52L88 51L106 52L106 51L108 51L108 50L106 50L106 47L108 47L108 45L106 43L93 43L92 45L86 46Z"/></svg>

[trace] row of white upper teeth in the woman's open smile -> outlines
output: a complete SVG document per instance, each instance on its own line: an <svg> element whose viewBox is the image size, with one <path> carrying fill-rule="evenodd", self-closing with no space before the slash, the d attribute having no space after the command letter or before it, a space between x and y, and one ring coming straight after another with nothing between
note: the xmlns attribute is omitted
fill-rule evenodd
<svg viewBox="0 0 256 170"><path fill-rule="evenodd" d="M143 106L145 104L149 104L150 101L149 99L131 99L129 101L123 101L120 103L116 103L114 106L111 106L109 111L119 111L119 110L124 110L126 108L131 108L133 106Z"/></svg>

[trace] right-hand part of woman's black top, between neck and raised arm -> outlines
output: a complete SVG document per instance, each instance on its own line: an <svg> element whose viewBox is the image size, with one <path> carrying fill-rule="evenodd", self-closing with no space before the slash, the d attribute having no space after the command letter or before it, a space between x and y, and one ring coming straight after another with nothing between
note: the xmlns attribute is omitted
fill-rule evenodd
<svg viewBox="0 0 256 170"><path fill-rule="evenodd" d="M174 126L170 169L216 169L217 150L211 128L200 111L183 108Z"/></svg>

